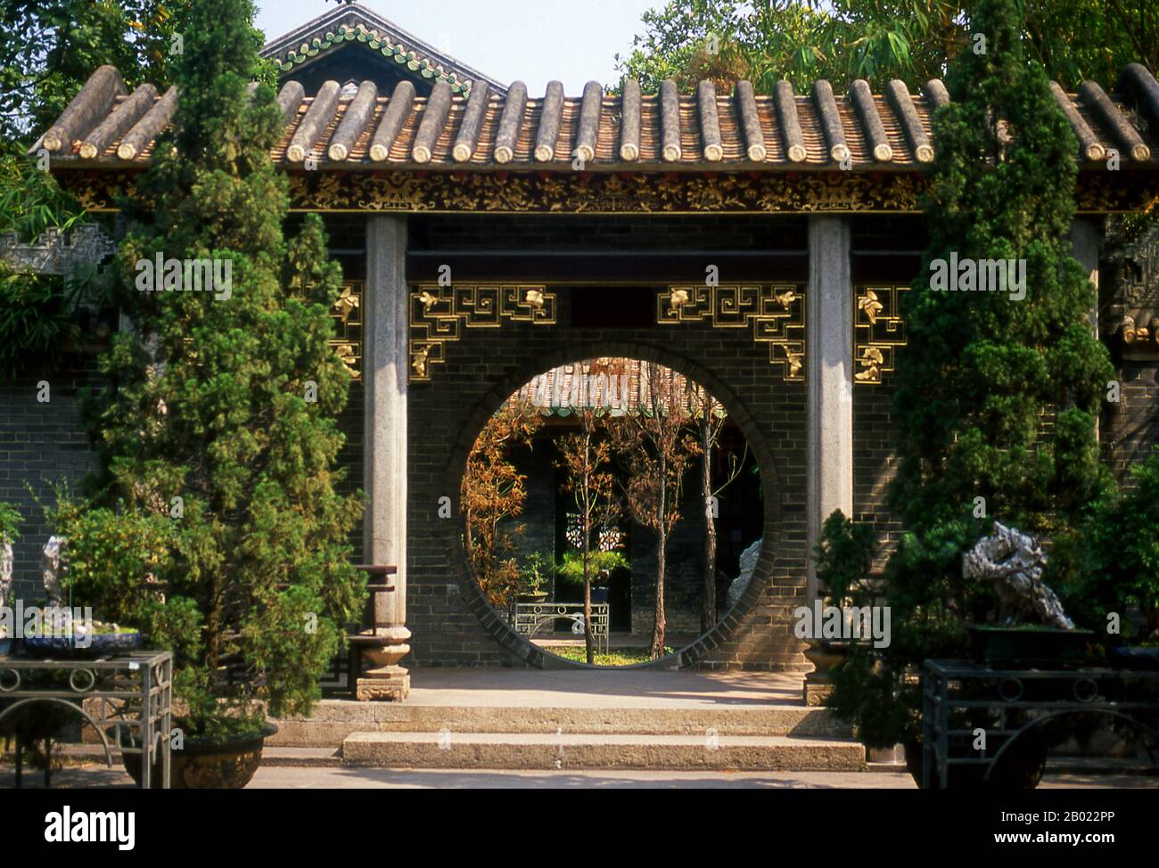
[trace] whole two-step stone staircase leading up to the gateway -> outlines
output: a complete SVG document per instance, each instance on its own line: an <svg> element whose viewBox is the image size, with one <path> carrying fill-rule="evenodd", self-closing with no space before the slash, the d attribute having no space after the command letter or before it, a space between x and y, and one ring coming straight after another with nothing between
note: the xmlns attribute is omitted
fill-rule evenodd
<svg viewBox="0 0 1159 868"><path fill-rule="evenodd" d="M323 701L277 721L267 764L389 768L860 771L865 747L824 708Z"/></svg>

